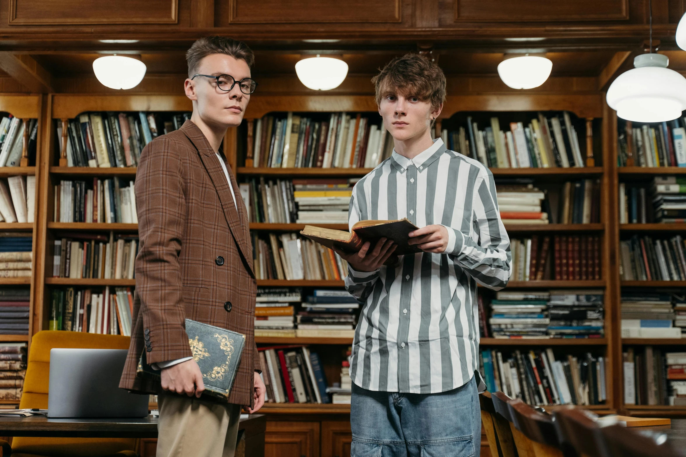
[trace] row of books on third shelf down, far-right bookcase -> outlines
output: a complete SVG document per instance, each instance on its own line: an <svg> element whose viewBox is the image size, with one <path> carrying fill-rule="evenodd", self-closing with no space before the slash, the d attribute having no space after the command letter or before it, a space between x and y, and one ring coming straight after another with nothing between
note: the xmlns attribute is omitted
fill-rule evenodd
<svg viewBox="0 0 686 457"><path fill-rule="evenodd" d="M685 281L686 245L681 235L634 235L619 241L619 278L624 281Z"/></svg>

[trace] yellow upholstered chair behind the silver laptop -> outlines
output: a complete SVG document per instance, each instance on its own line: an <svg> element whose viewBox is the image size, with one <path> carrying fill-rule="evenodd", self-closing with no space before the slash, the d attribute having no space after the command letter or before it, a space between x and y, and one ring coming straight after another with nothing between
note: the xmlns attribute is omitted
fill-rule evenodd
<svg viewBox="0 0 686 457"><path fill-rule="evenodd" d="M31 343L19 408L47 408L50 374L50 349L128 349L130 338L82 332L38 332ZM128 438L32 438L12 439L13 457L102 457L136 456L138 440ZM4 447L4 446L3 446ZM4 454L3 454L4 455Z"/></svg>

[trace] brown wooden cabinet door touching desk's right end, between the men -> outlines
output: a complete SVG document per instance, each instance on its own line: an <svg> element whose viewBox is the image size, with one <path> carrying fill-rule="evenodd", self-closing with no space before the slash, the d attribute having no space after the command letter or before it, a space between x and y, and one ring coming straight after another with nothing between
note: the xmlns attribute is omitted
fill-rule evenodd
<svg viewBox="0 0 686 457"><path fill-rule="evenodd" d="M265 457L319 457L319 422L268 421Z"/></svg>

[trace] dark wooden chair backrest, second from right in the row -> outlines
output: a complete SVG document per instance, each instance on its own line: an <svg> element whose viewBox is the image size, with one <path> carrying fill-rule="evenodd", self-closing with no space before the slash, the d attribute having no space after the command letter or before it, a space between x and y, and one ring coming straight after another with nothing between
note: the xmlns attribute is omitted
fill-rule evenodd
<svg viewBox="0 0 686 457"><path fill-rule="evenodd" d="M611 457L592 412L580 408L560 409L553 412L553 417L560 443L569 443L576 452L588 457Z"/></svg>

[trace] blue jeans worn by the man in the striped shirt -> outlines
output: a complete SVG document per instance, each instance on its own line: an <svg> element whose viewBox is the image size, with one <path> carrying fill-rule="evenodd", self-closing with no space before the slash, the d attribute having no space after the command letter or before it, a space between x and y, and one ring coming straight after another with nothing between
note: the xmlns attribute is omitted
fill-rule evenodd
<svg viewBox="0 0 686 457"><path fill-rule="evenodd" d="M451 391L368 391L353 384L351 457L479 457L481 412L474 377Z"/></svg>

